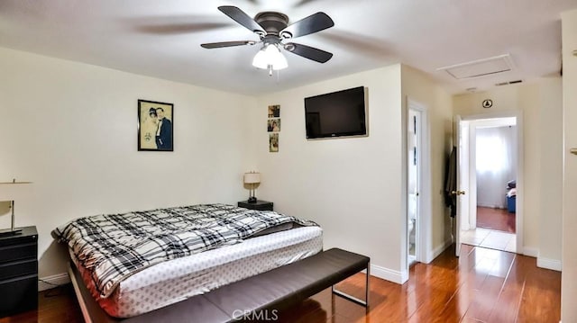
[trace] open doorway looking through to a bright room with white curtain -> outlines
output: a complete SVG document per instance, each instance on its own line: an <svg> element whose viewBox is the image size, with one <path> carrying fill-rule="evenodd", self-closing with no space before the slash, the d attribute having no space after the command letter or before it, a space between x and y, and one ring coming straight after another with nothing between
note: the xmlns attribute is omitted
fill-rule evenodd
<svg viewBox="0 0 577 323"><path fill-rule="evenodd" d="M517 252L517 182L522 177L517 116L481 116L460 122L464 159L459 236L463 244Z"/></svg>

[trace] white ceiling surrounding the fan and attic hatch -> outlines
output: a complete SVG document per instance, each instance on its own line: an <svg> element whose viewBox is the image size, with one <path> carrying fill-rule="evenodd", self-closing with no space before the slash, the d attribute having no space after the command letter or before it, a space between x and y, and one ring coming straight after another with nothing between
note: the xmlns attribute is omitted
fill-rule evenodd
<svg viewBox="0 0 577 323"><path fill-rule="evenodd" d="M296 22L319 11L334 27L292 40L334 53L325 64L286 53L289 68L252 67L256 46L201 43L258 40L219 12L279 11ZM447 91L558 75L563 11L575 0L0 0L0 47L243 94L262 94L403 63ZM510 54L513 71L455 80L438 67Z"/></svg>

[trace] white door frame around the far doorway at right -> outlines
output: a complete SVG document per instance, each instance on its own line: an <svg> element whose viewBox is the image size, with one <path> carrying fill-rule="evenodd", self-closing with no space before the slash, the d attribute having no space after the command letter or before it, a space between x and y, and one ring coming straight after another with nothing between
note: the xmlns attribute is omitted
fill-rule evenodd
<svg viewBox="0 0 577 323"><path fill-rule="evenodd" d="M516 212L515 212L515 234L516 234L516 252L517 254L525 254L524 246L523 246L523 219L524 219L524 185L525 185L525 167L524 167L524 142L525 139L523 137L523 112L521 110L512 110L507 112L488 112L488 113L476 113L476 114L467 114L462 115L462 121L481 121L486 119L501 119L501 118L516 118L517 119L517 198L516 198ZM469 123L469 127L471 127L471 123ZM470 132L471 134L471 132ZM469 136L471 137L471 136ZM474 139L474 138L473 138ZM470 141L472 138L469 139ZM468 148L472 148L471 145L467 145ZM474 148L474 147L473 147ZM467 155L470 159L472 159L472 154L470 151L467 152ZM471 162L471 161L470 161ZM471 167L470 167L471 171ZM471 178L471 174L469 174L469 178ZM475 177L476 179L476 177ZM476 181L469 180L469 185L475 184ZM467 191L463 197L469 199L469 206L470 208L473 207L472 202L475 202L476 206L476 195L472 197L471 187L463 188ZM474 192L476 193L476 191ZM466 212L467 216L470 217L470 210ZM457 228L459 231L461 228ZM456 230L455 230L456 231ZM459 233L457 233L459 234Z"/></svg>

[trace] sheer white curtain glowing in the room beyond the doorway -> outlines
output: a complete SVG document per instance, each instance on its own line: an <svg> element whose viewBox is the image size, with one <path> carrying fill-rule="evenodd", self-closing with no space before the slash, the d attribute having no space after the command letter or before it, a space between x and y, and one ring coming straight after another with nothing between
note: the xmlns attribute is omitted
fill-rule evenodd
<svg viewBox="0 0 577 323"><path fill-rule="evenodd" d="M516 126L476 130L477 205L507 208L507 182L517 179Z"/></svg>

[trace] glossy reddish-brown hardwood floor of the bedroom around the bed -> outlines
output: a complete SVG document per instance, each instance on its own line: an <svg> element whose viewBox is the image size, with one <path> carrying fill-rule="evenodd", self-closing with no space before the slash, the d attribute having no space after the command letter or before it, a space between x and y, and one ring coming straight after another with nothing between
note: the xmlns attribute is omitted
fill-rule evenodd
<svg viewBox="0 0 577 323"><path fill-rule="evenodd" d="M463 245L431 264L410 269L403 285L371 277L371 311L339 297L330 289L269 319L286 323L381 322L559 322L561 273L536 267L536 258ZM364 274L338 288L362 298ZM0 319L5 322L80 322L82 316L71 288L41 293L37 311ZM50 294L49 294L50 296ZM274 315L273 315L274 314Z"/></svg>

